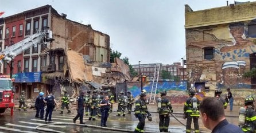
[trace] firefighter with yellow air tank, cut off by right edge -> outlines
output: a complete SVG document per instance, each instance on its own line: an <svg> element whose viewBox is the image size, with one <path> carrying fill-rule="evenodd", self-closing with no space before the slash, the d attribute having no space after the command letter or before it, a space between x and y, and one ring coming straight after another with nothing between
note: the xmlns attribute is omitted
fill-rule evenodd
<svg viewBox="0 0 256 133"><path fill-rule="evenodd" d="M256 128L256 112L254 107L254 98L252 96L246 96L245 98L245 123L241 125L243 132L255 132ZM239 117L239 119L241 119ZM240 120L239 120L240 121Z"/></svg>

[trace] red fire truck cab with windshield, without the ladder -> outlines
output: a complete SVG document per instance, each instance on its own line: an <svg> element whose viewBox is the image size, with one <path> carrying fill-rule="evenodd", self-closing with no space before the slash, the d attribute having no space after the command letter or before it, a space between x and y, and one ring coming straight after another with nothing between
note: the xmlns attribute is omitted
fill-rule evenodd
<svg viewBox="0 0 256 133"><path fill-rule="evenodd" d="M11 116L13 116L13 82L10 78L0 76L0 114L10 108Z"/></svg>

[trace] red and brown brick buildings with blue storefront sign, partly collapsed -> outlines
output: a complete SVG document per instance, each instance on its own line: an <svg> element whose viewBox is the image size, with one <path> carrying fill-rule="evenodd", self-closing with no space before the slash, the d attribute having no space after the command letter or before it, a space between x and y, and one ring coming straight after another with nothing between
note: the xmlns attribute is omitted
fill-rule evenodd
<svg viewBox="0 0 256 133"><path fill-rule="evenodd" d="M67 19L66 14L57 13L51 5L1 18L0 37L4 40L0 40L0 48L45 28L52 30L55 40L34 45L13 60L14 87L17 94L25 91L26 99L36 97L40 91L51 91L56 77L64 79L65 49L75 50L88 60L110 61L110 37L107 34L92 29L91 25ZM1 74L10 75L10 67L1 66Z"/></svg>

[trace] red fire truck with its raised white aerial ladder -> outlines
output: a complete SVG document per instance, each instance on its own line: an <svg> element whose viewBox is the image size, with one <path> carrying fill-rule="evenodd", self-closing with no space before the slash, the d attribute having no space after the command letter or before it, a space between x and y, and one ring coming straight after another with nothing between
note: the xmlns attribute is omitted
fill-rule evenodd
<svg viewBox="0 0 256 133"><path fill-rule="evenodd" d="M47 46L47 42L52 41L51 30L46 29L44 31L38 31L36 34L33 34L0 52L0 64L3 66L3 62L9 63L15 56L34 45L41 44ZM13 97L14 89L11 77L0 76L0 114L4 113L7 108L10 108L11 116L13 116Z"/></svg>

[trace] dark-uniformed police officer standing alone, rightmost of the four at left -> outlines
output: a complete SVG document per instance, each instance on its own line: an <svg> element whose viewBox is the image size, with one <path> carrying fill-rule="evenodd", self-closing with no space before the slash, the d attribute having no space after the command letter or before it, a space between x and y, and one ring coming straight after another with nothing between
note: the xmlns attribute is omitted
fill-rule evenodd
<svg viewBox="0 0 256 133"><path fill-rule="evenodd" d="M106 122L107 122L107 118L108 118L108 112L110 110L110 101L108 100L108 96L105 95L104 99L102 101L100 101L100 112L102 112L102 116L101 116L101 121L100 121L100 126L102 127L107 127Z"/></svg>

